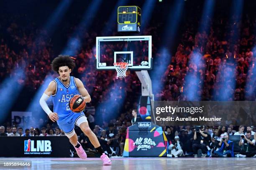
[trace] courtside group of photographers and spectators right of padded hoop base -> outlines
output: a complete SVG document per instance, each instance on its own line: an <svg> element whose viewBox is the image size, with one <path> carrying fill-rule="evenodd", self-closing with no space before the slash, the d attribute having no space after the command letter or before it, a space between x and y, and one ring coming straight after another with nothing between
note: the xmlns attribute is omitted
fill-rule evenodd
<svg viewBox="0 0 256 170"><path fill-rule="evenodd" d="M256 127L179 126L166 127L167 157L254 157ZM236 130L237 131L236 131ZM253 131L254 130L254 131Z"/></svg>

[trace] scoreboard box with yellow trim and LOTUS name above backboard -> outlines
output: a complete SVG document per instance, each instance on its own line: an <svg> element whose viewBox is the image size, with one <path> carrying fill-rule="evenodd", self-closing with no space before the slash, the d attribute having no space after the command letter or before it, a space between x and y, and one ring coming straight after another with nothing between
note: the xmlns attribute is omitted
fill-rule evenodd
<svg viewBox="0 0 256 170"><path fill-rule="evenodd" d="M118 32L140 32L141 8L138 6L118 7Z"/></svg>

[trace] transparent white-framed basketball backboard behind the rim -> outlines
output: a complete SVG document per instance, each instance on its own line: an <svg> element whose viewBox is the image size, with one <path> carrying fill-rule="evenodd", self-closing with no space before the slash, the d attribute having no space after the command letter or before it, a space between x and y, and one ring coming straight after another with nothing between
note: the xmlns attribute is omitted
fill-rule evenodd
<svg viewBox="0 0 256 170"><path fill-rule="evenodd" d="M115 70L114 62L127 62L131 70L150 70L151 43L151 35L96 37L96 69Z"/></svg>

